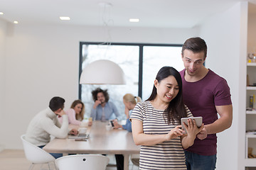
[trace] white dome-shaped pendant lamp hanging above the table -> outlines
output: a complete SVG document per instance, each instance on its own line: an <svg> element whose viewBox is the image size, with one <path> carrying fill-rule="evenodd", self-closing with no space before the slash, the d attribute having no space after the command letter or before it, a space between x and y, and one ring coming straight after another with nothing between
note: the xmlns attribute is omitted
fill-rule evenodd
<svg viewBox="0 0 256 170"><path fill-rule="evenodd" d="M110 60L97 60L82 70L80 84L125 84L124 72Z"/></svg>

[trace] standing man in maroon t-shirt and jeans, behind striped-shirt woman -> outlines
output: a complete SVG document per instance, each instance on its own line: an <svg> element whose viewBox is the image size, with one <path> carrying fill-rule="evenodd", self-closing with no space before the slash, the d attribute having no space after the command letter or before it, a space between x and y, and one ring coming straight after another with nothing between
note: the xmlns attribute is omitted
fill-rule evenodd
<svg viewBox="0 0 256 170"><path fill-rule="evenodd" d="M180 72L183 100L193 116L202 116L204 123L194 145L185 151L188 170L215 169L216 133L230 128L233 118L228 83L203 66L206 55L207 45L201 38L189 38L182 46L181 57L185 67Z"/></svg>

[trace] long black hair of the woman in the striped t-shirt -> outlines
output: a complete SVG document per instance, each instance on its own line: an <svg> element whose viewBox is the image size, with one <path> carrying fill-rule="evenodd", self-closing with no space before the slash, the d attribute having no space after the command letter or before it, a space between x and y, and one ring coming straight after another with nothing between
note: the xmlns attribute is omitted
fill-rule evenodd
<svg viewBox="0 0 256 170"><path fill-rule="evenodd" d="M178 123L181 124L181 118L187 117L186 108L183 103L182 96L182 80L179 72L174 69L174 67L162 67L159 72L156 74L156 80L160 83L163 79L166 79L169 76L173 76L178 82L178 94L177 96L169 103L167 108L164 110L164 120L168 124L174 123L174 120L178 120ZM156 87L153 86L151 96L146 101L152 101L156 98L157 92Z"/></svg>

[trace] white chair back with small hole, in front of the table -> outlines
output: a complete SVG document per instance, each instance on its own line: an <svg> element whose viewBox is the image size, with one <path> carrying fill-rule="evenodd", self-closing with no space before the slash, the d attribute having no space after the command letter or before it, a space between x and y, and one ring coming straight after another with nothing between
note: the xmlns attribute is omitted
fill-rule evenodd
<svg viewBox="0 0 256 170"><path fill-rule="evenodd" d="M105 170L109 162L108 157L100 154L74 154L55 160L59 170Z"/></svg>

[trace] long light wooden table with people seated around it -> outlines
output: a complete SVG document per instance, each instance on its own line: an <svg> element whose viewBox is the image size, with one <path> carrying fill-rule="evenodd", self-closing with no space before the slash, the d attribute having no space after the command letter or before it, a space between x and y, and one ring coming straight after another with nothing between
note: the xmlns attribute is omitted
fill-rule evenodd
<svg viewBox="0 0 256 170"><path fill-rule="evenodd" d="M49 153L66 154L123 154L124 170L129 169L129 155L139 154L140 147L134 144L132 132L127 130L106 130L108 122L94 121L91 127L87 127L90 134L87 141L75 141L74 139L51 140L45 147ZM70 128L79 128L71 126Z"/></svg>

